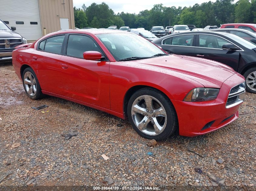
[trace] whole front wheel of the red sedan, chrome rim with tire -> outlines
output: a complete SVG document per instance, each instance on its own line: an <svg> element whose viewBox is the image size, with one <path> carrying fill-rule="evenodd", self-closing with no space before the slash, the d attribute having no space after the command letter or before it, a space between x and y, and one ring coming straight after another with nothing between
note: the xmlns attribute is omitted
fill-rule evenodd
<svg viewBox="0 0 256 191"><path fill-rule="evenodd" d="M128 102L127 112L133 128L144 138L165 139L178 126L171 101L165 94L153 88L136 91Z"/></svg>

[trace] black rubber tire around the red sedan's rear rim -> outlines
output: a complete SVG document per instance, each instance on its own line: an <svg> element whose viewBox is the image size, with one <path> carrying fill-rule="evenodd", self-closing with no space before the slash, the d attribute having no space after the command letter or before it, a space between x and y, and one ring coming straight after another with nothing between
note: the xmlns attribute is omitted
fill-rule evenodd
<svg viewBox="0 0 256 191"><path fill-rule="evenodd" d="M35 78L35 87L36 87L36 92L34 95L30 95L25 87L25 81L24 81L24 78L25 78L25 74L27 72L30 72L33 77ZM23 71L23 74L22 74L22 82L23 82L23 87L24 87L24 90L26 92L26 94L28 95L28 97L30 97L31 99L33 100L38 100L38 99L41 99L43 97L43 93L42 93L42 90L41 90L41 86L39 84L39 81L35 75L35 72L32 70L32 68L25 68L25 70ZM31 85L30 85L31 86Z"/></svg>

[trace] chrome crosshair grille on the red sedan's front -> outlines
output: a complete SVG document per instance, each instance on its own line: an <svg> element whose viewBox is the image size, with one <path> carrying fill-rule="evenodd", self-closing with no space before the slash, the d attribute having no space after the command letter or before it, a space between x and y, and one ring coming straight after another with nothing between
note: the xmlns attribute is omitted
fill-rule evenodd
<svg viewBox="0 0 256 191"><path fill-rule="evenodd" d="M245 82L231 88L228 94L226 108L234 107L239 103L242 103L244 99L244 95L245 95Z"/></svg>

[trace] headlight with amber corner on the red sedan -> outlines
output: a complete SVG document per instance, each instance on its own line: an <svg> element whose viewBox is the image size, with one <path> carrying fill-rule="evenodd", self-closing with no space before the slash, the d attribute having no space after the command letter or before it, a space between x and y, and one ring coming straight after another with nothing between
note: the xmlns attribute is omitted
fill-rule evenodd
<svg viewBox="0 0 256 191"><path fill-rule="evenodd" d="M194 88L184 98L183 101L209 101L215 100L219 94L220 89L214 88Z"/></svg>

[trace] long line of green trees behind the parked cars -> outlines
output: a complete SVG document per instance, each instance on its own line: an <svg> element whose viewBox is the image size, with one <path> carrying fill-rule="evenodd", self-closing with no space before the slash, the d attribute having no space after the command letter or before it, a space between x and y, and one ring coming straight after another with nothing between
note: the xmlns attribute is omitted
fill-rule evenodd
<svg viewBox="0 0 256 191"><path fill-rule="evenodd" d="M75 27L108 28L116 25L118 28L143 27L149 30L152 26L173 26L175 24L194 24L198 28L207 25L225 23L256 23L256 0L217 0L194 4L192 7L165 7L155 4L150 10L140 11L139 14L121 12L115 14L109 6L92 3L86 7L74 7Z"/></svg>

